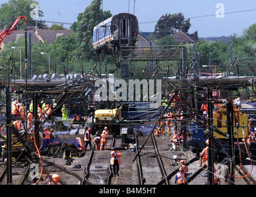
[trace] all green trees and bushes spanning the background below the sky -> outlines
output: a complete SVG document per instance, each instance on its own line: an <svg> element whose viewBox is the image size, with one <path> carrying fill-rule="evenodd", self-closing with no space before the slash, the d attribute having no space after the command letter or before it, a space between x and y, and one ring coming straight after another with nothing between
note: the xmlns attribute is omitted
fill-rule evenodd
<svg viewBox="0 0 256 197"><path fill-rule="evenodd" d="M0 25L8 25L13 23L16 15L10 17L14 20L6 22L7 14L14 11L2 10L9 9L11 10L11 4L24 4L27 3L30 5L32 0L10 0L6 4L1 4L0 8ZM21 6L22 7L22 6ZM27 6L24 6L27 7ZM31 10L30 8L24 8L26 11ZM98 23L106 20L106 18L111 17L109 11L103 12L100 9L101 1L93 0L90 6L88 6L83 13L80 13L77 16L77 22L75 22L70 28L75 32L74 34L69 34L66 37L59 36L56 41L51 42L50 44L45 42L33 43L33 74L44 74L48 73L48 55L42 55L41 52L46 52L50 54L51 57L51 73L56 70L59 74L64 74L64 67L67 69L67 63L69 63L70 73L82 73L82 68L84 73L91 73L93 67L97 63L96 70L101 74L109 73L109 70L114 71L114 76L121 78L121 68L117 68L117 62L119 62L119 55L105 55L101 59L101 65L99 63L99 56L95 54L92 47L92 37L93 37L93 27ZM12 7L13 9L13 7ZM22 10L18 12L17 16L25 15L21 14ZM24 11L23 11L24 12ZM28 12L28 16L29 16ZM43 14L43 12L41 12ZM30 26L35 25L33 21L30 21ZM180 43L173 42L172 35L179 30L180 26L183 26L184 31L189 30L190 22L189 20L184 20L184 16L179 14L166 14L163 15L158 21L155 33L148 35L148 39L155 41L160 46L167 45L179 45ZM62 29L63 26L53 24L50 29ZM193 33L194 38L198 38L197 31ZM231 42L224 42L223 40L218 41L198 41L195 43L196 52L200 54L200 65L208 65L209 52L211 53L211 65L216 65L218 72L226 71L231 65L230 60L230 44L233 44L233 59L237 58L236 64L233 66L233 72L236 75L237 64L239 65L239 74L240 75L252 75L252 72L248 69L248 64L255 65L255 55L256 55L256 24L249 26L249 28L244 30L244 34L237 38L236 34L231 36ZM180 44L182 45L182 44ZM28 46L28 43L27 43ZM18 49L12 49L12 47L17 47ZM22 77L25 78L25 43L24 39L20 37L17 42L7 42L5 50L0 51L0 66L4 65L4 70L0 72L0 78L6 79L7 74L10 73L10 67L13 63L14 70L11 76L11 79L20 78L20 49L22 51ZM193 44L188 45L188 57L189 61L192 61L193 57ZM150 50L145 49L145 56L150 55ZM10 58L11 57L11 58ZM69 60L69 61L68 61ZM140 78L140 74L145 68L146 62L132 62L129 65L134 72L132 78L134 79L150 79L152 74L144 74ZM148 62L150 64L150 62ZM161 67L160 73L156 75L156 78L162 78L168 66L170 66L169 76L175 76L177 71L177 66L180 66L180 62L154 62L153 65L158 65ZM188 63L190 65L190 62ZM106 66L106 67L105 67ZM152 68L153 73L156 71L156 68ZM145 73L150 71L150 66ZM28 62L28 73L29 73L29 62ZM93 74L96 74L95 72Z"/></svg>

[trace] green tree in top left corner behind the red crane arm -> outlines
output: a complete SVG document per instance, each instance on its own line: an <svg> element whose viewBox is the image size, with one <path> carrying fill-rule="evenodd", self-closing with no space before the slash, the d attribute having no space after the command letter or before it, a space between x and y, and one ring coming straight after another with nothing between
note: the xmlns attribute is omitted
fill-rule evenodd
<svg viewBox="0 0 256 197"><path fill-rule="evenodd" d="M33 12L33 9L30 6L33 4L39 3L33 0L9 0L6 3L2 3L0 7L0 30L4 29L4 26L7 25L8 28L12 26L17 17L25 16L28 19L28 26L35 26L36 22L30 16L30 12ZM38 17L43 17L43 11L38 10ZM45 26L44 22L40 22L41 26ZM20 28L24 28L25 23L22 24Z"/></svg>

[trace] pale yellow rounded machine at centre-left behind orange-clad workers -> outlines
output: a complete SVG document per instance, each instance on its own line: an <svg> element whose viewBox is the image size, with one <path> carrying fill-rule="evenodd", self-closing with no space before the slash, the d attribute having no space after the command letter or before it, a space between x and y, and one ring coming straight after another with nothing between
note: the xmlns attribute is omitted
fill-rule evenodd
<svg viewBox="0 0 256 197"><path fill-rule="evenodd" d="M121 109L113 110L95 110L93 124L95 131L102 132L105 127L108 127L109 133L113 135L120 134Z"/></svg>

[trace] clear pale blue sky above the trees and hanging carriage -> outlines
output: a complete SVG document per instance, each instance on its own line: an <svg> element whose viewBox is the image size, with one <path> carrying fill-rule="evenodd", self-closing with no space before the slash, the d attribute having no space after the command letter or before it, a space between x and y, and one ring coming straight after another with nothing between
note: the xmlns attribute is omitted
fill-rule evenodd
<svg viewBox="0 0 256 197"><path fill-rule="evenodd" d="M77 15L90 6L92 0L37 0L44 12L43 20L73 23ZM111 14L129 12L137 16L140 30L153 32L164 14L181 12L190 18L189 33L198 31L198 37L241 36L245 28L256 23L255 0L102 0L101 9ZM0 0L0 3L7 0ZM134 6L135 5L135 6ZM46 23L51 26L51 23ZM69 28L70 25L64 25Z"/></svg>

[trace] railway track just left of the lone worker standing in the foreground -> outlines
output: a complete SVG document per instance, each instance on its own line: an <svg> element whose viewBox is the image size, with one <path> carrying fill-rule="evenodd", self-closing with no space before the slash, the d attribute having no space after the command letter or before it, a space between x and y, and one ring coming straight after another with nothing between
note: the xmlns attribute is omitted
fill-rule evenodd
<svg viewBox="0 0 256 197"><path fill-rule="evenodd" d="M113 137L109 137L107 148L114 147L114 144L115 139ZM95 185L110 185L112 172L109 161L109 150L92 150L82 183L87 184L86 182L90 182Z"/></svg>

